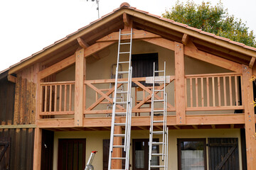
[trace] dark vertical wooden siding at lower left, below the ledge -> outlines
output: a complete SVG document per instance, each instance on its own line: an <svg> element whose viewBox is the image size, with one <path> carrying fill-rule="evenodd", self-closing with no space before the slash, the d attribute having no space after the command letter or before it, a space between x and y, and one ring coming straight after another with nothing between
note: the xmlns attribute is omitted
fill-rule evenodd
<svg viewBox="0 0 256 170"><path fill-rule="evenodd" d="M9 157L6 152L0 162L0 165L4 165L4 169L33 169L34 129L0 129L0 140L10 142Z"/></svg>

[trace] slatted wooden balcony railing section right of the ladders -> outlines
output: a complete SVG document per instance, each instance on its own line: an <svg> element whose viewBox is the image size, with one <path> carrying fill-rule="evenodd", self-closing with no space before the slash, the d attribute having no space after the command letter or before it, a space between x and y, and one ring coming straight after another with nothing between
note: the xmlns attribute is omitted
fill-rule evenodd
<svg viewBox="0 0 256 170"><path fill-rule="evenodd" d="M240 110L242 74L186 75L186 111Z"/></svg>

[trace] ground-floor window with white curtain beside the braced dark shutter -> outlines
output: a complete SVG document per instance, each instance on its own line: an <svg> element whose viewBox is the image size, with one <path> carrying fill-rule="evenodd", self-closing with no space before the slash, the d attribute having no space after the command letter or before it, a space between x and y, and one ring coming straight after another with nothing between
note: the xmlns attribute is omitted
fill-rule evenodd
<svg viewBox="0 0 256 170"><path fill-rule="evenodd" d="M178 169L206 169L206 139L178 139Z"/></svg>

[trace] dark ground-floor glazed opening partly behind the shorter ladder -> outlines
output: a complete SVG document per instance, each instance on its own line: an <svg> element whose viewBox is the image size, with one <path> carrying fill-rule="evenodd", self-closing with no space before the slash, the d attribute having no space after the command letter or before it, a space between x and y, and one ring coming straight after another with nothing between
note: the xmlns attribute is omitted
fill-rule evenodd
<svg viewBox="0 0 256 170"><path fill-rule="evenodd" d="M159 139L154 139L159 142ZM159 146L154 146L153 153L159 153ZM159 164L159 157L152 157L152 164ZM149 139L134 139L132 142L132 169L149 169Z"/></svg>

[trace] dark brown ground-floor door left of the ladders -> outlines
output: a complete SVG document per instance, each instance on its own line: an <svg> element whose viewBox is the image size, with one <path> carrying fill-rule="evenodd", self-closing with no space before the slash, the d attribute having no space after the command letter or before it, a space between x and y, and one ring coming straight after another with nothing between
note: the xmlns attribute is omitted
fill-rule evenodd
<svg viewBox="0 0 256 170"><path fill-rule="evenodd" d="M58 170L84 170L85 147L85 139L59 139Z"/></svg>

